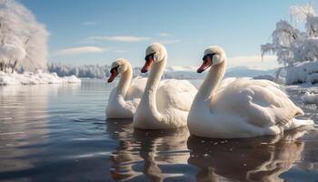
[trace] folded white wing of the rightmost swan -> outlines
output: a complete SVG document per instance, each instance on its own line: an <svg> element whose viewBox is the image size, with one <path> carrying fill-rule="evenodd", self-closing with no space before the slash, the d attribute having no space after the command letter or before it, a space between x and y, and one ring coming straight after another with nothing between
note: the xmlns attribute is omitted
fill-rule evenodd
<svg viewBox="0 0 318 182"><path fill-rule="evenodd" d="M284 126L294 116L303 115L277 84L247 78L238 78L226 86L211 108L227 109L254 126Z"/></svg>

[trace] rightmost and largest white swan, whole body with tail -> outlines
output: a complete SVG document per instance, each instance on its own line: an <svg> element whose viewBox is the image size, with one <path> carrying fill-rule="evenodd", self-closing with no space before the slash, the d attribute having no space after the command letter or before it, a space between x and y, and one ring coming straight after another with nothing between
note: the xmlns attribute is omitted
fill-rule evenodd
<svg viewBox="0 0 318 182"><path fill-rule="evenodd" d="M298 120L303 110L295 106L280 86L267 80L228 78L224 76L224 49L210 46L204 51L204 63L197 70L211 66L194 98L188 116L192 135L236 138L276 135L283 130L312 125L312 120ZM220 84L221 82L221 84Z"/></svg>

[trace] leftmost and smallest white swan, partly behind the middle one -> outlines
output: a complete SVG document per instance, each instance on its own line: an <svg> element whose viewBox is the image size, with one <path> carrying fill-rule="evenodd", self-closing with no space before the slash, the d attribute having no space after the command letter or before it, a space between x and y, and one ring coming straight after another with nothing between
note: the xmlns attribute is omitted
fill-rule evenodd
<svg viewBox="0 0 318 182"><path fill-rule="evenodd" d="M121 74L120 81L112 90L106 107L107 118L133 118L134 112L143 96L146 78L136 77L132 81L133 69L130 63L123 59L117 59L112 64L111 76L108 83Z"/></svg>

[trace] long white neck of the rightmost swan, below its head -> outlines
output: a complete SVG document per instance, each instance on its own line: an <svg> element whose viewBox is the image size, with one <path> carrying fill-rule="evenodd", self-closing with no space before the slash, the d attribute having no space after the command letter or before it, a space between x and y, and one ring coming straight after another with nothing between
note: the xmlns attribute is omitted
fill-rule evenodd
<svg viewBox="0 0 318 182"><path fill-rule="evenodd" d="M204 79L203 85L199 89L199 96L204 98L214 97L217 87L219 86L225 73L225 61L219 65L212 66L208 75Z"/></svg>

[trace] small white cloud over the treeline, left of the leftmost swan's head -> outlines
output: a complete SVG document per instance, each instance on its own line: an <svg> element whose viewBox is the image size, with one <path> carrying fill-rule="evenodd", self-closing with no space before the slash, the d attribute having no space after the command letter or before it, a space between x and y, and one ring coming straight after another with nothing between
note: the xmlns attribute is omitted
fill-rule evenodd
<svg viewBox="0 0 318 182"><path fill-rule="evenodd" d="M102 53L105 49L98 46L79 46L71 47L59 50L55 53L56 56L70 56L70 55L80 55L88 53Z"/></svg>

